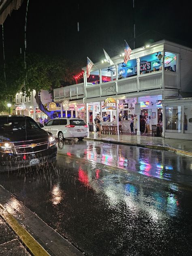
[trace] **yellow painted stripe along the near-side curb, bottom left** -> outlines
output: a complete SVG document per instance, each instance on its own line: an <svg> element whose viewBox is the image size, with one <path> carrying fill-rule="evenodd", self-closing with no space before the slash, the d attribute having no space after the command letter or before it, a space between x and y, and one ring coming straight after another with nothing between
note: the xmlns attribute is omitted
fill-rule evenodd
<svg viewBox="0 0 192 256"><path fill-rule="evenodd" d="M26 245L34 256L50 256L50 254L23 228L17 220L0 204L0 215L13 229L19 239Z"/></svg>

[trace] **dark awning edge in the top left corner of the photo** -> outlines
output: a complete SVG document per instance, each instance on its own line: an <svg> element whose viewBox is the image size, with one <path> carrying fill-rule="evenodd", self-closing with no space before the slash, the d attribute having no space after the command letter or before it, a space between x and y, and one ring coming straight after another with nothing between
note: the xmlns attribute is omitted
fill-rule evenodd
<svg viewBox="0 0 192 256"><path fill-rule="evenodd" d="M23 0L0 0L0 24L4 23L7 15L19 9Z"/></svg>

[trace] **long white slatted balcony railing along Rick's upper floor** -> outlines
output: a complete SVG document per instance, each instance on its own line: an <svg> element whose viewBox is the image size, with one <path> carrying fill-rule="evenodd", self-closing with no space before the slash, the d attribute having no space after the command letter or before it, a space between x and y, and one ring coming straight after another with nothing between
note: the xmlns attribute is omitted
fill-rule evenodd
<svg viewBox="0 0 192 256"><path fill-rule="evenodd" d="M149 74L139 75L139 77L130 77L120 79L117 81L109 81L93 85L87 83L84 93L84 84L79 83L70 85L54 90L54 99L78 99L84 98L97 98L103 96L114 96L117 94L127 94L129 92L139 92L152 89L162 88L162 71L157 71ZM178 88L178 75L177 73L165 71L164 72L164 88Z"/></svg>

